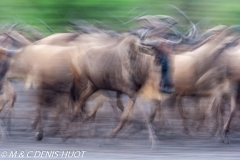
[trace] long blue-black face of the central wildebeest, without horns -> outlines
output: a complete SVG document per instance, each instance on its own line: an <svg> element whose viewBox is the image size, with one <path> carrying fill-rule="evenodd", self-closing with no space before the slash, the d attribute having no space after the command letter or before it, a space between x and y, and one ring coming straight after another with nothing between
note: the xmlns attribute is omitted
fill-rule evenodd
<svg viewBox="0 0 240 160"><path fill-rule="evenodd" d="M160 90L163 93L172 93L173 92L173 82L170 76L170 69L169 69L169 58L166 53L162 53L162 51L158 51L155 55L155 63L157 65L161 65L161 82L160 82Z"/></svg>

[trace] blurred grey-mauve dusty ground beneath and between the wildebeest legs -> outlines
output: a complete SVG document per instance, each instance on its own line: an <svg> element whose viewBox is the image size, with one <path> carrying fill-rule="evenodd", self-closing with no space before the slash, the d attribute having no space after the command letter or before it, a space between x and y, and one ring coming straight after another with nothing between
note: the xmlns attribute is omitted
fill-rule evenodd
<svg viewBox="0 0 240 160"><path fill-rule="evenodd" d="M94 124L78 124L77 134L63 142L61 135L52 135L49 130L51 122L47 121L44 139L36 141L35 132L31 130L31 122L35 116L36 93L34 90L24 91L23 84L13 82L18 93L15 112L12 120L11 133L0 143L0 159L239 159L240 157L240 127L239 119L233 119L229 135L230 144L222 144L216 137L211 137L212 119L206 117L204 125L194 132L198 109L194 101L184 100L185 110L188 111L188 128L190 136L183 132L177 109L163 107L164 118L157 118L154 128L157 131L159 144L151 149L148 140L144 118L139 112L140 102L137 103L133 122L125 127L115 139L108 135L117 124L116 117L110 104L106 102L97 114ZM126 101L126 97L123 98ZM206 102L207 103L207 102ZM89 108L95 101L88 103ZM148 106L145 104L145 106ZM227 115L228 112L226 112ZM91 125L90 125L91 124ZM4 127L4 126L3 126ZM90 129L90 131L89 131ZM52 153L47 155L46 152ZM55 154L53 154L55 153ZM74 153L75 155L71 155ZM84 154L83 154L84 153ZM42 155L41 155L42 154ZM72 156L72 157L71 157ZM75 156L75 157L74 157Z"/></svg>

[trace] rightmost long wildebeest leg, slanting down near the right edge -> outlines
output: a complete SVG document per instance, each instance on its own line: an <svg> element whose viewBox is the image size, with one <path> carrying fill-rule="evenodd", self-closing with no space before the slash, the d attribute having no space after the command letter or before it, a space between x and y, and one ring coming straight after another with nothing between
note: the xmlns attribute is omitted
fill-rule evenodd
<svg viewBox="0 0 240 160"><path fill-rule="evenodd" d="M229 143L229 141L228 141L229 126L230 126L231 120L234 116L235 109L236 109L236 93L234 91L235 90L233 90L233 92L230 94L230 103L231 103L230 114L229 114L226 124L223 126L223 140L227 144Z"/></svg>

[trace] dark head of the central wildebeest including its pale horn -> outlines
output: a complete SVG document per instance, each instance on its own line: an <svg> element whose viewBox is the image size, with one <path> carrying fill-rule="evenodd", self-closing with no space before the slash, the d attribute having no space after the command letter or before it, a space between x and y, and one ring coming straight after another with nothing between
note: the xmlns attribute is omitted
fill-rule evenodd
<svg viewBox="0 0 240 160"><path fill-rule="evenodd" d="M174 92L174 84L172 81L172 70L170 67L170 47L162 41L142 42L143 45L151 46L154 49L154 57L156 65L161 65L161 81L159 89L163 93L171 94Z"/></svg>

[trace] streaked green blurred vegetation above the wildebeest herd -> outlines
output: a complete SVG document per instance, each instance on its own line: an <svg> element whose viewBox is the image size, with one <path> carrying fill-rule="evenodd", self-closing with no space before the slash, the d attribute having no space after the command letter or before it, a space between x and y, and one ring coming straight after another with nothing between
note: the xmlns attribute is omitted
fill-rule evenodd
<svg viewBox="0 0 240 160"><path fill-rule="evenodd" d="M134 25L131 20L139 15L167 14L181 18L168 4L180 8L194 23L206 19L204 23L208 26L239 24L240 15L238 0L0 0L0 4L1 23L24 22L47 35L64 32L67 26L80 20L127 30Z"/></svg>

